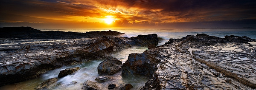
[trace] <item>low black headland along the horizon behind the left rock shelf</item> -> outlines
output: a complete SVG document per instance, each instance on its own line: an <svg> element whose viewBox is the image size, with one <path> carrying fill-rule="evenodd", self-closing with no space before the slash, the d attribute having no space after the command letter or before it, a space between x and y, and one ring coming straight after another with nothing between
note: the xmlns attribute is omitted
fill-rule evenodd
<svg viewBox="0 0 256 90"><path fill-rule="evenodd" d="M124 33L117 31L91 31L86 33L64 31L40 31L31 27L3 27L0 28L0 38L19 39L76 39L102 36L118 36Z"/></svg>

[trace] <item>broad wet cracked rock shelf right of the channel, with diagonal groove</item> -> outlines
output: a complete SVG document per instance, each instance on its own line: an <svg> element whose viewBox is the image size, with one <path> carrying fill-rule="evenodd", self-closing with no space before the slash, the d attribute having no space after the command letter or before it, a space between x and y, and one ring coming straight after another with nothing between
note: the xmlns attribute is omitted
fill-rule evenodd
<svg viewBox="0 0 256 90"><path fill-rule="evenodd" d="M165 45L141 53L146 54L145 58L151 55L148 52L157 51L157 57L162 57L141 90L255 89L256 45L247 43L255 39L231 37L236 39L197 34L170 39Z"/></svg>

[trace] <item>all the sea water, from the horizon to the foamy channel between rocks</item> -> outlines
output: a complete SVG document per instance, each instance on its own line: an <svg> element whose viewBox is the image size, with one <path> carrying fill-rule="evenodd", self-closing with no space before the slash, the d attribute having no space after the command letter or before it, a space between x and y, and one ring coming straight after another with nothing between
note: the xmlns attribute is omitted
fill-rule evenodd
<svg viewBox="0 0 256 90"><path fill-rule="evenodd" d="M163 38L163 41L159 42L158 45L163 45L165 42L168 42L170 38L182 38L186 35L196 35L196 34L208 34L210 36L224 37L226 35L236 35L236 36L247 36L252 39L256 39L256 29L40 29L41 31L73 31L73 32L87 32L87 31L119 31L125 33L122 37L136 37L140 34L157 34L158 37ZM6 43L12 44L12 43ZM113 53L112 56L116 57L122 63L128 59L130 53L142 53L143 51L148 50L147 47L131 47L125 50ZM99 76L97 73L97 66L103 60L92 60L90 62L85 62L80 65L64 66L55 70L50 70L47 73L42 74L37 79L28 80L25 82L19 82L16 84L10 84L3 87L0 87L0 90L34 90L34 88L46 81L47 79L58 77L58 73L61 70L66 68L80 67L73 75L68 75L63 78L60 78L56 83L55 87L52 87L51 90L81 90L83 83L87 80L94 81L94 79ZM122 77L121 72L114 74L111 77L111 80L108 82L101 83L99 86L101 89L107 89L109 84L114 83L117 86L130 83L133 85L133 90L139 90L147 82L147 78L143 76L126 76ZM73 84L76 82L76 84Z"/></svg>

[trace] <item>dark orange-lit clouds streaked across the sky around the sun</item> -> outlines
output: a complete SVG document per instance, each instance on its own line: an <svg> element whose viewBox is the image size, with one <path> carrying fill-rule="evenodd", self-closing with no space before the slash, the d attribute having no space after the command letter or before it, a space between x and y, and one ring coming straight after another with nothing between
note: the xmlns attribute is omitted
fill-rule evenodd
<svg viewBox="0 0 256 90"><path fill-rule="evenodd" d="M129 23L172 23L256 19L255 5L256 0L1 0L0 12L36 17L29 22L102 22L112 15ZM26 22L15 18L9 21Z"/></svg>

